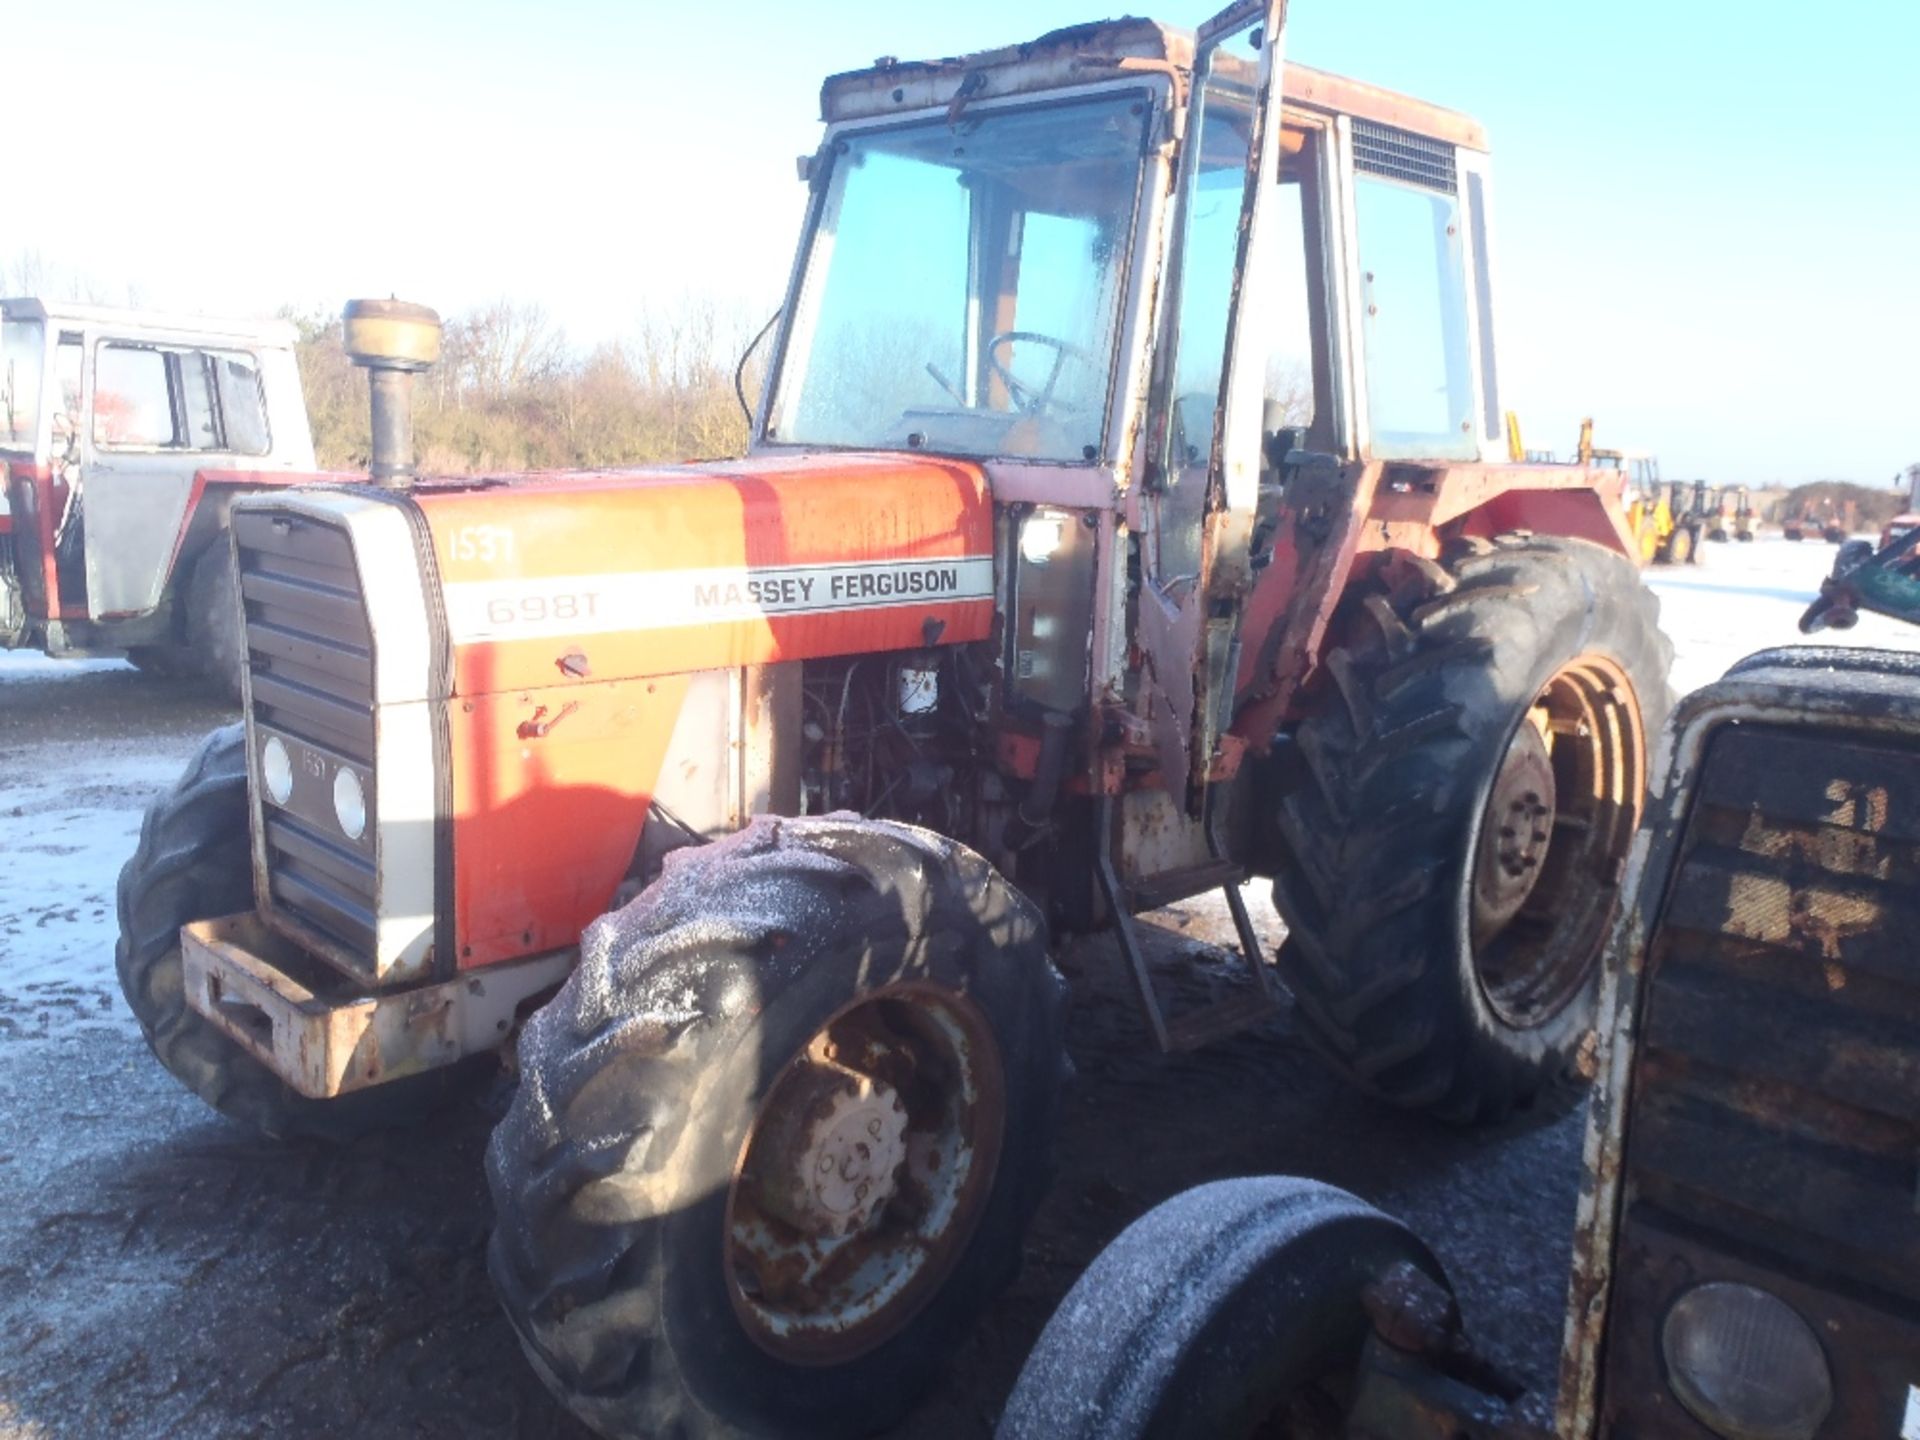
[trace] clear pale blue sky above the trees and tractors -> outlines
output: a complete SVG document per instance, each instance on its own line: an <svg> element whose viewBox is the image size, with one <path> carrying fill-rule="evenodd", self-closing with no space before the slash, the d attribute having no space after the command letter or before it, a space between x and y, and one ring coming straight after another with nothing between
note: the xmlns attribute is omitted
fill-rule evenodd
<svg viewBox="0 0 1920 1440"><path fill-rule="evenodd" d="M582 344L687 300L756 323L822 75L1098 15L13 0L0 263L207 311L538 300ZM1294 0L1288 54L1488 125L1528 444L1594 415L1672 476L1920 461L1920 8Z"/></svg>

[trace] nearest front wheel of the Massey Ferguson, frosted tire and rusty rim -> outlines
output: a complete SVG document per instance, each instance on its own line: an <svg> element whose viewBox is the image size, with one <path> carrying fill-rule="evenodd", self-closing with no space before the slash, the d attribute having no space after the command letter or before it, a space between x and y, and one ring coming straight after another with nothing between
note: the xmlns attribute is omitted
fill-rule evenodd
<svg viewBox="0 0 1920 1440"><path fill-rule="evenodd" d="M541 1379L609 1436L899 1421L1018 1267L1062 1006L1035 908L927 831L674 852L528 1023L488 1148Z"/></svg>

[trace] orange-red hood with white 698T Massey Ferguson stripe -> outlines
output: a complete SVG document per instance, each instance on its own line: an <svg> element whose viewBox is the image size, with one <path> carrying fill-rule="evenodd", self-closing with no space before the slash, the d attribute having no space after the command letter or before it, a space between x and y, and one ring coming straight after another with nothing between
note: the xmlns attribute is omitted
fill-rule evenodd
<svg viewBox="0 0 1920 1440"><path fill-rule="evenodd" d="M993 624L991 495L958 461L831 453L424 482L411 501L455 695L914 649Z"/></svg>

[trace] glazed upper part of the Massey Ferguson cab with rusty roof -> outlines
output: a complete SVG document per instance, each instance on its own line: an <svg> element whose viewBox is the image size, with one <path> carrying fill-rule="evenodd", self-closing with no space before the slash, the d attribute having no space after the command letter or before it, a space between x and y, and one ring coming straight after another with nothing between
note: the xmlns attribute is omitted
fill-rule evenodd
<svg viewBox="0 0 1920 1440"><path fill-rule="evenodd" d="M1283 67L1273 19L1121 19L828 79L756 445L1167 493L1204 486L1215 440L1258 465L1261 434L1500 453L1484 131Z"/></svg>

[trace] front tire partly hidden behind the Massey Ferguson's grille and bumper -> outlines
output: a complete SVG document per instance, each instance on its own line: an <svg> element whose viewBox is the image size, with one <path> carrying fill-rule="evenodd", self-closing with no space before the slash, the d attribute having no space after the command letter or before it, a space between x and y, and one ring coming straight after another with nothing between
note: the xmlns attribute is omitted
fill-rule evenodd
<svg viewBox="0 0 1920 1440"><path fill-rule="evenodd" d="M478 1073L455 1066L334 1100L313 1100L269 1071L186 1004L180 925L253 904L246 728L215 730L140 824L119 877L113 966L161 1066L230 1119L278 1139L348 1140L419 1119ZM492 1069L492 1066L488 1066Z"/></svg>

